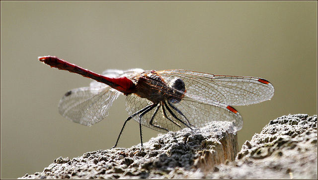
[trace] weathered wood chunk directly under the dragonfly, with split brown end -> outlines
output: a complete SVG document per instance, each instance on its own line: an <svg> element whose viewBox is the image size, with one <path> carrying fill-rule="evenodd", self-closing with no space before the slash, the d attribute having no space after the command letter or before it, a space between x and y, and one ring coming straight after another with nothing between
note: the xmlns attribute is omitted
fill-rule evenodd
<svg viewBox="0 0 318 180"><path fill-rule="evenodd" d="M68 178L177 178L181 172L209 171L215 165L234 161L237 135L227 133L230 123L217 122L201 129L182 129L161 134L132 148L85 153L78 158L58 158L42 173L22 179Z"/></svg>

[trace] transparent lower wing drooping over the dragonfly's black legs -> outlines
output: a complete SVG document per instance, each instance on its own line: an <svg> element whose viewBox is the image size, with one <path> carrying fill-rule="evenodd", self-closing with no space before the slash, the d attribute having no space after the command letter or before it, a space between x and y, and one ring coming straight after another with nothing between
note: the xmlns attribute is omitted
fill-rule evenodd
<svg viewBox="0 0 318 180"><path fill-rule="evenodd" d="M243 120L238 112L228 109L228 105L205 100L186 94L179 103L161 102L151 107L153 102L131 94L126 98L126 110L131 116L138 111L149 108L142 117L141 114L133 117L134 120L151 129L167 132L177 131L186 127L199 128L215 121L225 121L232 127L229 132L237 132L243 126ZM202 100L202 99L201 99ZM168 110L169 109L169 110ZM152 122L151 122L152 121Z"/></svg>

